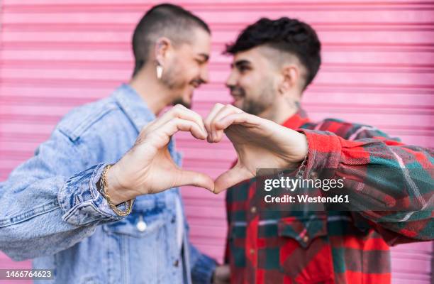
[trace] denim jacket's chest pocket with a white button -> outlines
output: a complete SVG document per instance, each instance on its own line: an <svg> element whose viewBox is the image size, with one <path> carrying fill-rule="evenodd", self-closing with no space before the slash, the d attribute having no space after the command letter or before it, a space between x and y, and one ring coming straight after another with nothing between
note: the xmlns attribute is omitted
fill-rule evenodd
<svg viewBox="0 0 434 284"><path fill-rule="evenodd" d="M109 237L109 283L167 283L172 275L173 240L168 212L132 212L104 225ZM172 233L172 234L170 234ZM140 273L138 273L140 272Z"/></svg>

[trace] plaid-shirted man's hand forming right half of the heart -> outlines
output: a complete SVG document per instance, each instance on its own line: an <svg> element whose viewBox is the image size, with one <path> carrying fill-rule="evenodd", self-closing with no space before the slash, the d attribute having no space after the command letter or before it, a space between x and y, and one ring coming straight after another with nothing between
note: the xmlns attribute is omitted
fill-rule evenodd
<svg viewBox="0 0 434 284"><path fill-rule="evenodd" d="M205 126L208 142L220 142L224 132L238 155L235 166L214 181L214 193L254 178L259 168L296 168L308 152L304 134L230 104L216 104Z"/></svg>

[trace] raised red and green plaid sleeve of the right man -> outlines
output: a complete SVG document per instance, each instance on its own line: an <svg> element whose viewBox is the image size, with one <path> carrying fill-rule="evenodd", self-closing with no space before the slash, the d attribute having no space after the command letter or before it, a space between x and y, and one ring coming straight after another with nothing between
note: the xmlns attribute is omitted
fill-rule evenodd
<svg viewBox="0 0 434 284"><path fill-rule="evenodd" d="M370 126L326 120L316 129L299 129L309 145L306 178L322 169L333 169L327 178L345 177L345 188L361 204L355 211L389 245L434 239L432 149L404 145ZM394 170L400 177L382 175L378 168ZM384 204L399 204L400 210L363 207L379 199Z"/></svg>

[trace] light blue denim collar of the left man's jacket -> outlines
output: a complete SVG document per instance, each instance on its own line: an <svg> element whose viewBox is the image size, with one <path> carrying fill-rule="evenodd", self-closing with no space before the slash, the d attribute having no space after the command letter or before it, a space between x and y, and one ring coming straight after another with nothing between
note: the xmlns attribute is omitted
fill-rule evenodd
<svg viewBox="0 0 434 284"><path fill-rule="evenodd" d="M113 97L130 121L133 122L137 131L140 132L145 124L155 119L155 114L149 109L145 100L129 84L121 84L113 92Z"/></svg>

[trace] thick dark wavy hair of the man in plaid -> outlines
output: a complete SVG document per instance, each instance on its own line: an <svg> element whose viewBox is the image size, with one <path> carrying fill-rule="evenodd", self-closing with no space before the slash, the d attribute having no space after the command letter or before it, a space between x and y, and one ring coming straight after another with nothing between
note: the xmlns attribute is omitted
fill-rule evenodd
<svg viewBox="0 0 434 284"><path fill-rule="evenodd" d="M267 45L299 58L307 70L304 89L311 84L321 65L321 43L318 35L311 26L297 19L261 18L256 23L247 26L238 35L235 43L226 45L225 53L235 55L235 53L255 48L258 45Z"/></svg>

